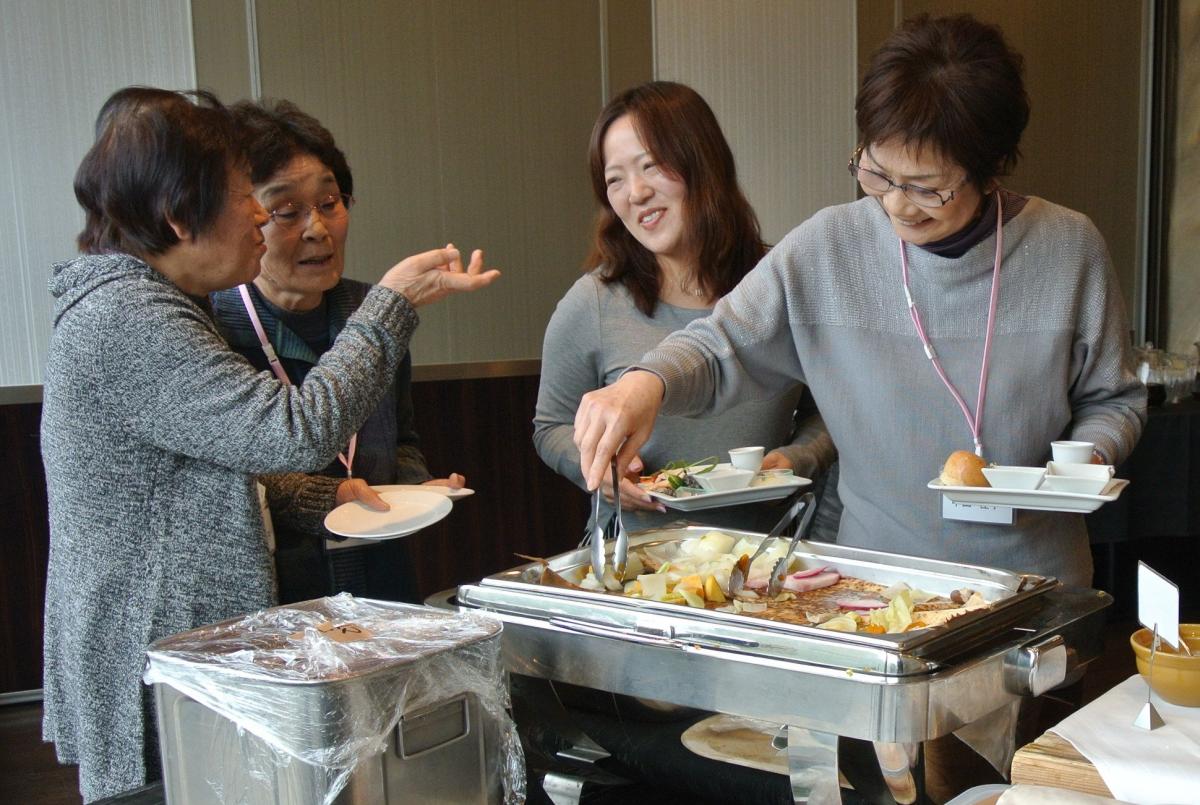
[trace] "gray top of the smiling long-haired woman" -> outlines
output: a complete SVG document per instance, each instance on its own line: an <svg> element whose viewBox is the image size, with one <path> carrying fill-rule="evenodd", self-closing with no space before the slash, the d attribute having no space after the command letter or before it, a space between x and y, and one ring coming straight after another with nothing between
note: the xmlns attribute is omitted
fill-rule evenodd
<svg viewBox="0 0 1200 805"><path fill-rule="evenodd" d="M576 280L550 319L541 350L533 437L541 459L584 488L580 451L572 440L580 398L608 385L667 335L710 312L659 302L654 316L649 317L637 310L624 286L604 283L598 271ZM678 459L716 456L728 461L731 447L762 445L768 452L779 449L786 453L798 475L815 476L833 462L834 450L820 417L797 426L794 416L802 391L798 383L781 384L770 394L744 401L703 421L661 417L641 451L646 471ZM624 521L629 530L661 527L679 519L766 530L782 515L776 509L751 504L689 515L672 510L666 513L628 511ZM605 504L601 511L606 515L610 506Z"/></svg>

